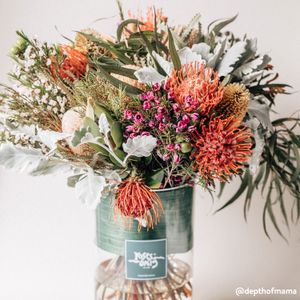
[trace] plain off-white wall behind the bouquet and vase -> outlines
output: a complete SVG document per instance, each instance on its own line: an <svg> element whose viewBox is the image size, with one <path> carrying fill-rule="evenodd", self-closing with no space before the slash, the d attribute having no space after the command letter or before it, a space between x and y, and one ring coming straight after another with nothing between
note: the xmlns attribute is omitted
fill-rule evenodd
<svg viewBox="0 0 300 300"><path fill-rule="evenodd" d="M177 23L187 22L198 11L205 24L238 12L230 29L258 37L259 49L273 57L281 80L296 91L300 89L300 1L123 2L133 10L161 6L170 21ZM67 36L90 26L113 33L116 18L92 22L116 14L114 1L0 0L0 81L6 80L4 74L11 68L7 53L16 29L62 41L55 25ZM300 108L299 94L278 97L277 103L280 115L289 115ZM299 227L292 230L289 245L275 234L270 242L262 230L262 202L257 195L246 224L242 200L213 216L211 212L220 202L212 206L209 197L198 191L195 300L235 299L234 290L239 286L298 288L296 297L256 299L300 299ZM29 178L0 171L0 299L92 300L97 259L93 212L75 200L63 177Z"/></svg>

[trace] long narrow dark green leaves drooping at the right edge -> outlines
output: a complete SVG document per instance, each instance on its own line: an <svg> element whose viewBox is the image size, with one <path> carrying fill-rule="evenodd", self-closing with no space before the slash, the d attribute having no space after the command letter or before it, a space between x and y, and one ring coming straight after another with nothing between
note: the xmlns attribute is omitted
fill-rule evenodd
<svg viewBox="0 0 300 300"><path fill-rule="evenodd" d="M281 212L286 227L289 227L291 221L298 222L300 219L300 134L295 133L300 129L300 118L277 119L272 125L274 131L265 138L258 172L251 174L247 170L241 176L239 189L218 211L245 194L244 215L247 218L253 194L259 189L262 197L265 197L263 226L266 235L270 237L267 226L269 219L278 234L285 238L281 225L275 217L275 210L279 209ZM286 193L293 198L292 206Z"/></svg>

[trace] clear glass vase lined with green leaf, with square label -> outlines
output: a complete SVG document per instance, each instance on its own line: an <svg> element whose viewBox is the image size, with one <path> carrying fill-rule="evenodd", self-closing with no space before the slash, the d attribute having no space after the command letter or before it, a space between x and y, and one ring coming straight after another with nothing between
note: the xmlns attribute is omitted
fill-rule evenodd
<svg viewBox="0 0 300 300"><path fill-rule="evenodd" d="M193 188L156 193L164 215L151 230L116 219L112 196L99 204L96 300L192 299Z"/></svg>

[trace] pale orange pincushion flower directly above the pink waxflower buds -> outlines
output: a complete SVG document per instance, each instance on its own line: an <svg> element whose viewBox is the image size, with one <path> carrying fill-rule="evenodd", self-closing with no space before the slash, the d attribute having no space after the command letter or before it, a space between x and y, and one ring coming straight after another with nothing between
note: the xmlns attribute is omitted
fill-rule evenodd
<svg viewBox="0 0 300 300"><path fill-rule="evenodd" d="M223 97L218 73L200 63L190 63L179 71L173 70L167 80L167 86L184 111L199 110L203 116Z"/></svg>

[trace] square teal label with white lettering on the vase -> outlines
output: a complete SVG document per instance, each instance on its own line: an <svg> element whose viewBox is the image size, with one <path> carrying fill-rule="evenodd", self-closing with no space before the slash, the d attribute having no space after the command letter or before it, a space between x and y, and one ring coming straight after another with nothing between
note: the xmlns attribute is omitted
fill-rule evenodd
<svg viewBox="0 0 300 300"><path fill-rule="evenodd" d="M167 277L167 240L126 240L125 273L131 280Z"/></svg>

